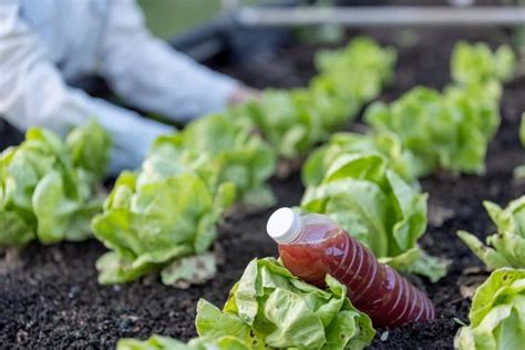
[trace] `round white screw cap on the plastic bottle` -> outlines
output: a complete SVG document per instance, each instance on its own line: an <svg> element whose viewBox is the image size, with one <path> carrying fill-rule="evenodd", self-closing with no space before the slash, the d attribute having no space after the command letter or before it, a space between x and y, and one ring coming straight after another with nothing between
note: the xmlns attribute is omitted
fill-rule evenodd
<svg viewBox="0 0 525 350"><path fill-rule="evenodd" d="M296 239L302 230L301 217L290 208L279 208L271 214L266 231L275 241L287 244Z"/></svg>

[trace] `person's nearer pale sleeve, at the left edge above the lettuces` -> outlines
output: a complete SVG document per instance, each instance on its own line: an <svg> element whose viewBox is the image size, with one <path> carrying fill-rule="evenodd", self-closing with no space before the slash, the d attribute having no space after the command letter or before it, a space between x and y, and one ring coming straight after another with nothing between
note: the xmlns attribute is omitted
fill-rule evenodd
<svg viewBox="0 0 525 350"><path fill-rule="evenodd" d="M0 115L24 131L64 134L96 117L112 134L112 171L137 167L150 143L173 128L65 85L43 43L19 17L18 0L0 3Z"/></svg>

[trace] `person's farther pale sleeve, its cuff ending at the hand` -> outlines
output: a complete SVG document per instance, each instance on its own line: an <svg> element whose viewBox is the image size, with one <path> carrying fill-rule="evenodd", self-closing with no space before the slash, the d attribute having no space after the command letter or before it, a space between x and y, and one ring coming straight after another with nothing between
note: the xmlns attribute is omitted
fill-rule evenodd
<svg viewBox="0 0 525 350"><path fill-rule="evenodd" d="M134 0L113 1L101 73L126 103L185 121L223 110L238 82L154 38Z"/></svg>

